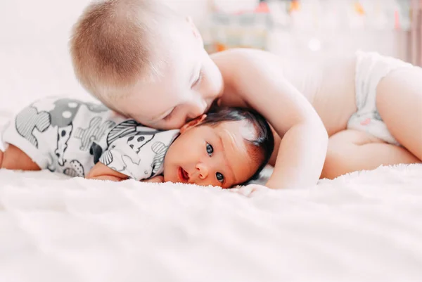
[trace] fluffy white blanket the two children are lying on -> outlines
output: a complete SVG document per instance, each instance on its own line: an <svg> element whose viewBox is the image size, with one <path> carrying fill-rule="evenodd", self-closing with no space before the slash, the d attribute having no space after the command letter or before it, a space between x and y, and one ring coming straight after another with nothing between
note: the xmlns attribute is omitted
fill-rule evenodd
<svg viewBox="0 0 422 282"><path fill-rule="evenodd" d="M0 170L1 282L421 281L422 165L251 198Z"/></svg>

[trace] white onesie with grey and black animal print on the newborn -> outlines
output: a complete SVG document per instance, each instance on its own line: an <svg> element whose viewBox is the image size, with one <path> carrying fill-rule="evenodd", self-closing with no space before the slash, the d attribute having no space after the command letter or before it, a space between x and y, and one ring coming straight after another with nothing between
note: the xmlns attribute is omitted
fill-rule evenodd
<svg viewBox="0 0 422 282"><path fill-rule="evenodd" d="M103 162L130 178L162 173L179 130L160 131L127 120L106 106L73 98L44 98L15 116L2 140L23 150L41 169L84 177Z"/></svg>

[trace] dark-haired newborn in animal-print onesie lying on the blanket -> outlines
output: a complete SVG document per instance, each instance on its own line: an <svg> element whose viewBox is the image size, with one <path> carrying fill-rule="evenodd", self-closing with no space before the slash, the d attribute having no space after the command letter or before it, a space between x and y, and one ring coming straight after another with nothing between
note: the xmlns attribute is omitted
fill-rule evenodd
<svg viewBox="0 0 422 282"><path fill-rule="evenodd" d="M160 131L72 98L32 103L2 139L1 168L113 181L164 172L164 181L222 188L255 179L274 148L269 124L250 110L216 108L180 130Z"/></svg>

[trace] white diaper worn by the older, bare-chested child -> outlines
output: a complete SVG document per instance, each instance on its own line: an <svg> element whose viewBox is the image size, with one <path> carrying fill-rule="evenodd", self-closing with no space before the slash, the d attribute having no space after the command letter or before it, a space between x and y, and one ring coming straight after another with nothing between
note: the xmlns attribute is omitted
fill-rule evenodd
<svg viewBox="0 0 422 282"><path fill-rule="evenodd" d="M348 129L368 132L379 139L399 145L389 132L376 108L376 88L381 79L395 70L417 68L396 58L357 51L355 91L357 112L347 122ZM399 95L397 93L397 95Z"/></svg>

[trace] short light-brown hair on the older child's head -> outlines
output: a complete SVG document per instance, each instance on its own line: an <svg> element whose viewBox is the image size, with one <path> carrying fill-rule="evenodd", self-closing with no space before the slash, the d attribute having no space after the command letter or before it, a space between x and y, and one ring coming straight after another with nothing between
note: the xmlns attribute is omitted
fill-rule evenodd
<svg viewBox="0 0 422 282"><path fill-rule="evenodd" d="M93 96L113 108L143 79L160 74L163 25L177 18L158 0L96 1L73 27L70 55L75 75Z"/></svg>

